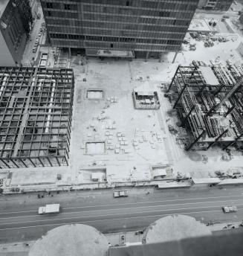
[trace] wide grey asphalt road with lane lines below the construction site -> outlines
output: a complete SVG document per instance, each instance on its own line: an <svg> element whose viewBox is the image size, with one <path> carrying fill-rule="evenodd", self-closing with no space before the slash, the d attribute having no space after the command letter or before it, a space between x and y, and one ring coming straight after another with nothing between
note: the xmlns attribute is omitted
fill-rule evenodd
<svg viewBox="0 0 243 256"><path fill-rule="evenodd" d="M130 189L129 197L112 197L113 191L62 193L36 199L23 195L0 201L0 242L38 239L51 228L70 223L92 225L104 233L148 226L170 214L187 214L201 222L224 223L243 220L243 189L147 191ZM46 203L59 202L60 214L38 215ZM12 206L11 206L12 205ZM236 205L236 213L224 214L221 207Z"/></svg>

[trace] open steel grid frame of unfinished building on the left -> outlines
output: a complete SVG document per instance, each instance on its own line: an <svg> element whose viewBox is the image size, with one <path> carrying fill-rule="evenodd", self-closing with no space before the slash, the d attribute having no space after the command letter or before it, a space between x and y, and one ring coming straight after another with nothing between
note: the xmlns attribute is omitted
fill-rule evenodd
<svg viewBox="0 0 243 256"><path fill-rule="evenodd" d="M68 165L74 74L0 67L0 167Z"/></svg>

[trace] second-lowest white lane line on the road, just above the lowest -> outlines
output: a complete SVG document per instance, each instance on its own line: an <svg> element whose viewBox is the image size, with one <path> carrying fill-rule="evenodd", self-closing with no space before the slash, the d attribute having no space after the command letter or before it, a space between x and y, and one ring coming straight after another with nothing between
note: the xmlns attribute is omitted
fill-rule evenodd
<svg viewBox="0 0 243 256"><path fill-rule="evenodd" d="M243 206L243 205L237 205L237 206ZM214 206L214 207L220 207L220 206ZM81 219L81 218L97 218L97 217L106 217L106 216L116 216L120 214L148 214L152 212L158 212L158 211L181 211L181 210L191 210L191 209L201 209L201 208L213 208L212 206L202 206L200 208L178 208L178 209L165 209L165 210L156 210L156 211L138 211L138 212L125 212L125 213L118 213L118 214L106 214L106 215L94 215L94 216L79 216L79 217L71 217L71 218L58 218L58 219L45 219L45 220L29 220L27 222L17 222L17 223L2 223L1 225L13 225L13 224L23 224L23 223L38 223L38 222L48 222L48 221L58 221L58 220L74 220L74 219ZM243 211L243 208L239 208L238 211ZM223 210L221 210L223 213ZM204 212L204 211L201 211ZM173 214L173 213L172 213ZM178 214L178 213L175 213ZM171 215L171 214L170 214ZM0 226L1 226L0 225ZM1 229L0 229L1 230Z"/></svg>

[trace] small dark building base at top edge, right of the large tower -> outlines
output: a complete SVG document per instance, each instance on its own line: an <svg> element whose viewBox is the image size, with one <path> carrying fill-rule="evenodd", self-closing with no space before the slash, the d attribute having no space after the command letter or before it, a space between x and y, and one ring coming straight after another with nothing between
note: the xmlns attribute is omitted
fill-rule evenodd
<svg viewBox="0 0 243 256"><path fill-rule="evenodd" d="M199 9L204 10L229 10L233 0L200 0Z"/></svg>

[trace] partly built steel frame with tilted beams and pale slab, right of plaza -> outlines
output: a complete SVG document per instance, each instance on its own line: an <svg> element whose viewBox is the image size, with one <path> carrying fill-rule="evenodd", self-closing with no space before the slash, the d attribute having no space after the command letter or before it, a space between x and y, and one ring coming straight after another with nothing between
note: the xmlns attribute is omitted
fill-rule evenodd
<svg viewBox="0 0 243 256"><path fill-rule="evenodd" d="M173 108L189 134L187 150L209 149L214 144L242 150L242 85L241 66L178 66L169 91L177 95Z"/></svg>

